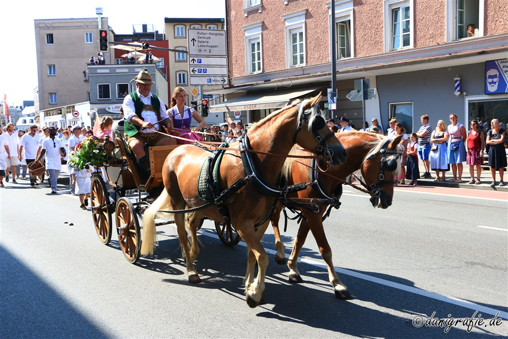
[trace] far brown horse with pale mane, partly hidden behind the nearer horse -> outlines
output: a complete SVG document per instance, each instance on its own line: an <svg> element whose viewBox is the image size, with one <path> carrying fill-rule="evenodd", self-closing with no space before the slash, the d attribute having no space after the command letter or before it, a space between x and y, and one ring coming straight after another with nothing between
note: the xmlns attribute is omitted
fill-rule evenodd
<svg viewBox="0 0 508 339"><path fill-rule="evenodd" d="M372 205L381 208L387 208L392 204L393 197L393 184L394 175L400 171L400 162L397 161L399 156L398 152L386 152L385 150L398 150L402 152L402 146L399 145L401 136L392 140L391 138L366 132L345 132L336 133L335 136L339 139L340 143L346 149L348 156L345 163L340 166L330 166L328 171L329 175L322 174L320 181L322 183L321 189L325 191L327 196L336 196L340 198L342 194L342 182L336 178L345 180L345 178L353 172L361 169L363 179L369 191L372 192L371 202ZM381 151L383 149L383 151ZM308 155L308 152L303 150L296 150L295 148L291 153L296 155ZM385 159L383 159L385 156ZM298 160L299 162L310 166L309 159ZM311 172L309 167L299 164L292 158L288 158L284 164L284 175L288 178L288 184L294 182L311 182ZM293 197L298 198L323 198L323 194L318 193L319 189L307 188L304 191L299 191L293 194ZM290 195L291 197L291 195ZM278 204L277 209L272 218L272 226L275 233L275 249L277 254L275 261L280 265L285 263L284 245L280 238L278 222L280 217L281 204ZM303 219L298 230L298 235L295 238L293 251L288 260L288 267L290 269L289 281L292 283L302 282L302 278L297 269L298 256L309 230L312 231L321 256L326 262L328 268L328 277L335 292L335 296L339 299L349 299L351 294L345 287L335 272L332 261L332 251L326 239L325 231L323 229L323 214L326 211L326 206L322 206L320 212L313 212L306 208L300 208Z"/></svg>

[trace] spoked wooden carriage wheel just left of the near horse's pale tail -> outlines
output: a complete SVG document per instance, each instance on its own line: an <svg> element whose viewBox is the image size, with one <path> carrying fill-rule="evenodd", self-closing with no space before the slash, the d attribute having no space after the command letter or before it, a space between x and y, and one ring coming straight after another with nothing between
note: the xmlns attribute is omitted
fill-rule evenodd
<svg viewBox="0 0 508 339"><path fill-rule="evenodd" d="M123 255L135 264L141 253L141 229L134 206L125 197L116 203L116 232Z"/></svg>

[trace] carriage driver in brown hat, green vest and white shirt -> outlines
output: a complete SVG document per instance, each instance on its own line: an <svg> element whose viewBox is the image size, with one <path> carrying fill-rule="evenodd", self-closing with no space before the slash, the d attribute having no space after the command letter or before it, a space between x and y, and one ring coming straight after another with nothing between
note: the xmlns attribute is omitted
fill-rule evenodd
<svg viewBox="0 0 508 339"><path fill-rule="evenodd" d="M162 100L150 91L155 83L150 74L143 68L133 80L136 81L136 91L126 96L122 105L125 141L141 167L148 170L150 166L144 149L145 143L165 146L175 145L176 140L166 133L159 133L164 132L164 127L171 128L171 119L168 118Z"/></svg>

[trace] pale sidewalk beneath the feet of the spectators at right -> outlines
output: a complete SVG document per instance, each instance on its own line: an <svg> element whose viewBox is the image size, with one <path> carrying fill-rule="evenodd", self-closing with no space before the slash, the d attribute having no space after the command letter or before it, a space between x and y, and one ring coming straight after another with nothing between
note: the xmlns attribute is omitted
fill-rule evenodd
<svg viewBox="0 0 508 339"><path fill-rule="evenodd" d="M490 174L490 168L483 166L482 173L480 175L481 184L468 184L469 180L471 180L471 175L469 174L469 165L466 165L464 162L464 170L462 171L462 183L453 183L453 182L439 182L433 181L436 178L436 172L431 171L432 177L430 179L418 179L417 182L421 186L440 186L440 187L451 187L451 188L461 188L461 189L472 189L472 190L487 190L487 191L498 191L498 192L508 192L508 186L499 187L499 171L496 171L496 187L490 187L490 183L492 182L492 175ZM420 175L423 176L425 172L425 168L423 167L423 162L418 159L418 166L420 167ZM484 168L488 168L485 170ZM476 170L474 171L474 175L476 175ZM453 179L452 167L450 166L450 171L446 172L447 179ZM475 177L476 179L476 177ZM407 179L406 179L407 181ZM503 177L504 183L508 184L508 173L504 171Z"/></svg>

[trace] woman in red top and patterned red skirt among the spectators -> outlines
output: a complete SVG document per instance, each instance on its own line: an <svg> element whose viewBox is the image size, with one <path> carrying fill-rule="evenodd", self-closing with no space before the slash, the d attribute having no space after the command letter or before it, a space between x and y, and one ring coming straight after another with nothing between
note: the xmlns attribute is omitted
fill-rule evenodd
<svg viewBox="0 0 508 339"><path fill-rule="evenodd" d="M471 130L466 139L466 164L469 165L469 174L471 180L469 184L480 184L480 175L482 174L483 150L485 148L485 136L480 131L480 125L477 120L471 120L469 127ZM477 179L474 180L474 167L477 169Z"/></svg>

